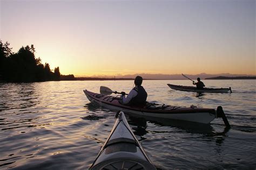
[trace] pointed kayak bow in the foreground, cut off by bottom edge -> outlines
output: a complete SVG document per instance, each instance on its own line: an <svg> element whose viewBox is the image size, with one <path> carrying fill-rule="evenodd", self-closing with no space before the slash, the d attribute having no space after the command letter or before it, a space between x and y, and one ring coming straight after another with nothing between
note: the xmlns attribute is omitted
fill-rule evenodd
<svg viewBox="0 0 256 170"><path fill-rule="evenodd" d="M90 169L156 169L133 134L123 112Z"/></svg>

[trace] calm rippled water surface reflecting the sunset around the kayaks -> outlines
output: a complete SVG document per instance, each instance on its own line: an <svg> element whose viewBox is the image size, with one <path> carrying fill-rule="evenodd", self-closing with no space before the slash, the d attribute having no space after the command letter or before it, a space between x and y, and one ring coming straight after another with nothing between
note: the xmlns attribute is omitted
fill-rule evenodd
<svg viewBox="0 0 256 170"><path fill-rule="evenodd" d="M177 106L222 105L228 121L210 125L145 120L126 115L134 134L158 169L255 169L256 81L204 80L207 87L232 87L232 94L176 91L144 81L148 100ZM100 86L129 92L133 81L0 83L0 169L87 169L109 136L115 112L90 104L84 89ZM100 116L99 120L85 116Z"/></svg>

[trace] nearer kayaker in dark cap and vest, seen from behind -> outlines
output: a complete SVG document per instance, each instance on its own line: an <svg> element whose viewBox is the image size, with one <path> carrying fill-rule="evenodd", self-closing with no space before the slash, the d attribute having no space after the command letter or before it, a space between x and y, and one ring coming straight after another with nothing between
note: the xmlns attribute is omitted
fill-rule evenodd
<svg viewBox="0 0 256 170"><path fill-rule="evenodd" d="M130 93L125 97L125 92L122 91L122 103L129 105L143 105L147 100L146 90L142 87L142 77L137 76L134 79L135 87L130 91Z"/></svg>

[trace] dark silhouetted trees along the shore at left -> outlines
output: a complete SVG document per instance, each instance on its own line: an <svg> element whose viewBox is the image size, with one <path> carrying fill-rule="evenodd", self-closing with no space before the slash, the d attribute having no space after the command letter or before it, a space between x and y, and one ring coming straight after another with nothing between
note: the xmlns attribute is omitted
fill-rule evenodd
<svg viewBox="0 0 256 170"><path fill-rule="evenodd" d="M10 44L0 40L0 82L41 82L74 79L73 75L61 75L59 67L53 71L49 63L42 63L35 57L35 47L21 47L17 53L12 52Z"/></svg>

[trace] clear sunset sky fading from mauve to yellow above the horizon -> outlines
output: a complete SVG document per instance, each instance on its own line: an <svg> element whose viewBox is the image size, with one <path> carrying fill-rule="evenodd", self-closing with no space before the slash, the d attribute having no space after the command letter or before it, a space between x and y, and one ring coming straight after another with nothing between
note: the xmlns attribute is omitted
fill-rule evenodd
<svg viewBox="0 0 256 170"><path fill-rule="evenodd" d="M256 74L254 0L0 2L0 39L61 74Z"/></svg>

